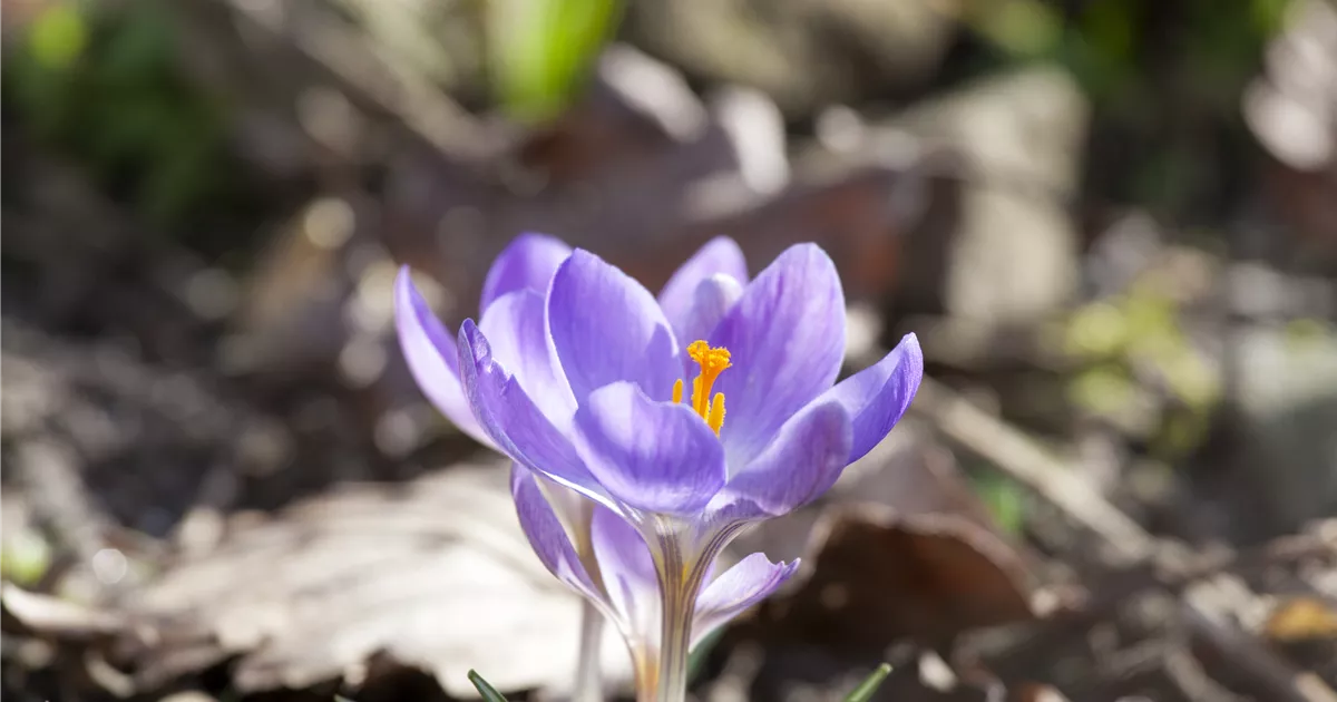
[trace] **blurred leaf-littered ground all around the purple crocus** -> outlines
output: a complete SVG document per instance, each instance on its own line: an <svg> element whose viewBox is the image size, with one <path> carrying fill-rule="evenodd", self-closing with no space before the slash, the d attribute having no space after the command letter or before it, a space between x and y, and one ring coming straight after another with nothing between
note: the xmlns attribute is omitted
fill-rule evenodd
<svg viewBox="0 0 1337 702"><path fill-rule="evenodd" d="M846 372L923 342L698 699L1337 699L1333 3L0 0L4 699L570 694L393 338L523 231L816 241Z"/></svg>

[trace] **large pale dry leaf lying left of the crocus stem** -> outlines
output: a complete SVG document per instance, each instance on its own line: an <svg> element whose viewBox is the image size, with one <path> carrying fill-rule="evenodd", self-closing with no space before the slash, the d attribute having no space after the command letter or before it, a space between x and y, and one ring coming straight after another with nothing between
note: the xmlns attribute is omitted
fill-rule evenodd
<svg viewBox="0 0 1337 702"><path fill-rule="evenodd" d="M350 485L271 519L238 515L217 550L170 564L82 626L13 588L5 608L71 643L112 630L108 661L136 690L225 662L241 693L356 689L392 662L435 674L455 697L475 695L469 669L503 690L562 693L579 602L543 571L513 515L501 464ZM612 683L626 681L624 651L612 640L604 651Z"/></svg>

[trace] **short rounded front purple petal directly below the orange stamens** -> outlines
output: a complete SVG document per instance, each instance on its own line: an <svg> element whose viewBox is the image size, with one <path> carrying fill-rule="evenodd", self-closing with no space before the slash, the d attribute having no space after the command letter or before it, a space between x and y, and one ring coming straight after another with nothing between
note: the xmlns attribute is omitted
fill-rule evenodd
<svg viewBox="0 0 1337 702"><path fill-rule="evenodd" d="M636 509L697 515L725 485L725 451L710 427L687 405L656 402L630 382L591 393L574 427L588 471Z"/></svg>

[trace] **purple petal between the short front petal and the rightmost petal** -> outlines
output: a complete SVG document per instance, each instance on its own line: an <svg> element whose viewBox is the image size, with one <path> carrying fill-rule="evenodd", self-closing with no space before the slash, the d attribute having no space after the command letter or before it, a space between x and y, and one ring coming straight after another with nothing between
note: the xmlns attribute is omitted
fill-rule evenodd
<svg viewBox="0 0 1337 702"><path fill-rule="evenodd" d="M849 465L852 435L840 402L813 402L781 427L766 451L729 477L726 495L770 515L790 512L836 483Z"/></svg>

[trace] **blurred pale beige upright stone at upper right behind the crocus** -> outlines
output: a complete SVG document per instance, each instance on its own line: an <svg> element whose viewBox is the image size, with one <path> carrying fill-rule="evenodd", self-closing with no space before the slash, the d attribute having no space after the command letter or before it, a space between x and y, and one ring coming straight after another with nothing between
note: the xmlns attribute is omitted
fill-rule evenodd
<svg viewBox="0 0 1337 702"><path fill-rule="evenodd" d="M987 326L1042 320L1076 290L1070 211L1090 106L1066 72L1029 68L967 86L890 120L953 148L964 193L937 290L949 317ZM876 151L876 150L873 150Z"/></svg>

